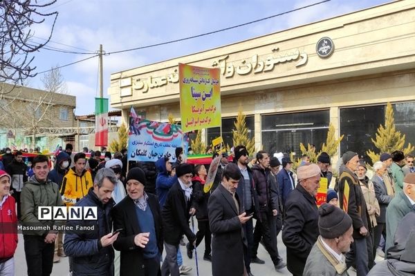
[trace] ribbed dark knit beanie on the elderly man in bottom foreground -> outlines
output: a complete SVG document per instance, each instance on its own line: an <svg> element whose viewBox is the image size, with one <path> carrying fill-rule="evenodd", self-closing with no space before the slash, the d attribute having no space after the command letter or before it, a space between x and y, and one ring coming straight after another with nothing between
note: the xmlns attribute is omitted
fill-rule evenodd
<svg viewBox="0 0 415 276"><path fill-rule="evenodd" d="M344 210L331 205L323 204L318 208L318 230L320 236L326 239L334 239L340 237L349 230L351 226L351 218Z"/></svg>

